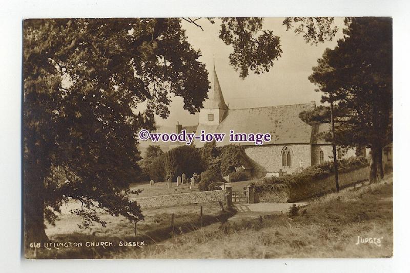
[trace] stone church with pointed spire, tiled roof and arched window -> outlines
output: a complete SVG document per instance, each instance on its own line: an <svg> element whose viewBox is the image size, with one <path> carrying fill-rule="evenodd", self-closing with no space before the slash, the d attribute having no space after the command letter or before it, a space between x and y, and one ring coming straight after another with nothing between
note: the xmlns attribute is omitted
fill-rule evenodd
<svg viewBox="0 0 410 273"><path fill-rule="evenodd" d="M194 126L176 125L177 133L225 133L230 130L237 133L270 133L271 141L262 145L247 142L235 142L244 146L245 153L252 160L252 167L257 173L294 173L299 170L331 161L332 144L318 137L319 133L329 131L329 124L311 126L299 118L299 113L315 108L315 101L305 104L268 106L244 109L229 109L223 99L218 76L213 71L212 88L208 99L199 112L199 121ZM196 147L204 143L195 141ZM229 138L217 142L217 146L233 144ZM354 155L354 151L353 154ZM243 168L247 168L243 166Z"/></svg>

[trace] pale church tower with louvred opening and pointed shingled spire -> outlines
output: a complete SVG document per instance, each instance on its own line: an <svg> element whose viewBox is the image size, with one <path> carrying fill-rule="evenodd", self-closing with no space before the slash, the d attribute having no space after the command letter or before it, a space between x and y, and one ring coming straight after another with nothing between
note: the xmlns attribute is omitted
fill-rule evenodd
<svg viewBox="0 0 410 273"><path fill-rule="evenodd" d="M199 112L199 124L218 125L228 114L228 106L223 100L221 86L216 75L215 65L212 88L208 92L208 99L203 102Z"/></svg>

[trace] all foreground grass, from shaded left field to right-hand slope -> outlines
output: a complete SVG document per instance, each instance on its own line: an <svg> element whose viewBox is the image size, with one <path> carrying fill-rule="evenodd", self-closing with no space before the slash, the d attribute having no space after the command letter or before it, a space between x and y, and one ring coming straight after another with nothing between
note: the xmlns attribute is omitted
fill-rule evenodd
<svg viewBox="0 0 410 273"><path fill-rule="evenodd" d="M242 185L237 185L242 187ZM111 247L29 249L36 258L323 258L391 257L393 254L393 177L359 189L318 198L293 214L221 212L218 203L145 210L137 224L102 215L107 227L79 229L80 219L64 214L48 226L56 242L112 241ZM239 216L241 213L237 213ZM174 225L171 225L174 215ZM259 216L260 215L260 216ZM360 238L379 239L359 243ZM373 240L373 239L372 239ZM119 242L144 241L144 246L119 247Z"/></svg>

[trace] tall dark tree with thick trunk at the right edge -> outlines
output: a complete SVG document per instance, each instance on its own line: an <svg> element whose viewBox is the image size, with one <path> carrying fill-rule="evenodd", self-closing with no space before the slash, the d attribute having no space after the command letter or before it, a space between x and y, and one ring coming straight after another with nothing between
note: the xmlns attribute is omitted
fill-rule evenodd
<svg viewBox="0 0 410 273"><path fill-rule="evenodd" d="M371 148L370 181L383 177L382 150L393 140L392 19L345 19L343 39L326 49L309 77L322 102L336 105L336 141ZM306 122L329 122L329 109L302 112Z"/></svg>

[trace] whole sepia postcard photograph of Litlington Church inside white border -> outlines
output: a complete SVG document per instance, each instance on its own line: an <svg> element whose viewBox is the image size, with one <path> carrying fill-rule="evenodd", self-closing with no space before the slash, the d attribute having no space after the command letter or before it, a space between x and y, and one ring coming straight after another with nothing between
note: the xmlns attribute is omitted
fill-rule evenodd
<svg viewBox="0 0 410 273"><path fill-rule="evenodd" d="M393 29L24 18L24 257L391 258Z"/></svg>

